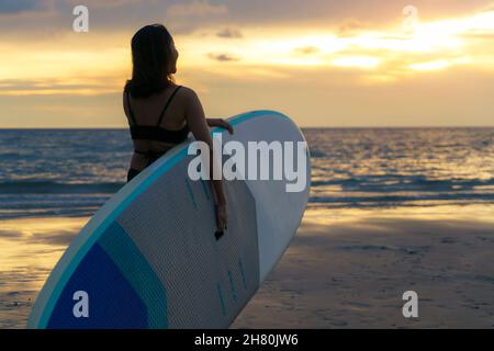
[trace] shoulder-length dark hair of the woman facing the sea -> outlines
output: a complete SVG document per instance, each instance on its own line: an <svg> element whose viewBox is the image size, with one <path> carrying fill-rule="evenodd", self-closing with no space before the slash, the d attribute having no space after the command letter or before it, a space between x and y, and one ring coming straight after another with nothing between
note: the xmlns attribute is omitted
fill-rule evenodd
<svg viewBox="0 0 494 351"><path fill-rule="evenodd" d="M125 91L135 99L148 98L173 82L167 71L172 59L173 38L161 24L146 25L132 37L132 79Z"/></svg>

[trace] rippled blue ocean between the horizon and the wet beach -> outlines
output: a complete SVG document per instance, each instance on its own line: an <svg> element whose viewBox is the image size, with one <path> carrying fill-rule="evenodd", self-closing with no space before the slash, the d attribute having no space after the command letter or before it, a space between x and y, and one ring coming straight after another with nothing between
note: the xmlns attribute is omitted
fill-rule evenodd
<svg viewBox="0 0 494 351"><path fill-rule="evenodd" d="M494 128L307 128L310 207L494 203ZM125 183L126 129L1 129L0 220L91 216Z"/></svg>

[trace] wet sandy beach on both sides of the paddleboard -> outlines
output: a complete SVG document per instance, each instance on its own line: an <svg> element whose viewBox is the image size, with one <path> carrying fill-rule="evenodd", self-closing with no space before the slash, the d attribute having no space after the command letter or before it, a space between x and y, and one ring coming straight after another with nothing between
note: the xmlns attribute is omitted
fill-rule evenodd
<svg viewBox="0 0 494 351"><path fill-rule="evenodd" d="M492 328L492 206L307 210L232 328ZM24 328L52 267L88 218L0 223L0 327ZM64 229L60 229L64 228ZM402 315L415 291L419 318Z"/></svg>

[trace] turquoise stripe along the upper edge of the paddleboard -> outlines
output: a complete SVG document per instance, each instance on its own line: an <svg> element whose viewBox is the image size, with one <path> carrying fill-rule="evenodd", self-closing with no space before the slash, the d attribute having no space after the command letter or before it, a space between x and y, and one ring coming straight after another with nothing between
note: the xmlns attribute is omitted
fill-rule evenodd
<svg viewBox="0 0 494 351"><path fill-rule="evenodd" d="M276 112L276 111L254 111L249 113L245 113L242 115L238 115L236 117L231 118L228 122L231 125L235 126L240 124L242 122L252 120L262 115L268 115L268 117L277 116L281 118L285 118L291 121L285 115ZM226 131L220 127L216 127L211 131L211 135L213 133L225 133ZM43 308L42 315L40 319L33 321L34 328L46 328L47 321L49 316L52 315L52 312L54 309L55 303L58 299L58 297L61 294L61 291L64 290L64 286L67 284L67 282L70 279L70 275L74 273L76 268L81 262L85 254L90 250L90 248L94 245L94 242L99 239L99 237L104 233L104 230L110 226L111 223L113 223L116 217L130 205L134 202L136 197L138 197L144 191L146 191L158 178L160 178L164 173L166 173L169 169L171 169L175 165L177 165L179 161L184 159L187 157L187 150L188 146L184 146L181 150L178 150L176 155L171 156L169 159L167 159L162 165L159 166L158 169L156 169L149 177L145 178L141 184L138 184L132 193L130 193L125 199L123 199L119 204L115 205L115 208L106 216L104 219L101 220L99 225L97 225L97 228L90 236L87 238L87 240L81 244L79 250L74 254L71 259L67 259L68 262L66 263L67 267L65 270L61 271L60 278L56 281L55 287L52 291L52 294L48 295L47 302ZM122 191L122 190L121 190ZM94 216L93 216L94 217ZM91 222L91 220L90 220Z"/></svg>

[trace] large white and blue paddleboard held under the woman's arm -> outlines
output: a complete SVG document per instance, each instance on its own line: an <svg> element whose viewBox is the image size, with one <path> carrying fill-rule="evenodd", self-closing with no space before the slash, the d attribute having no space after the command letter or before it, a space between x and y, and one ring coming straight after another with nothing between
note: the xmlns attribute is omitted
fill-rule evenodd
<svg viewBox="0 0 494 351"><path fill-rule="evenodd" d="M256 111L229 118L223 144L305 143L285 115ZM310 190L284 180L224 181L228 228L217 239L207 181L188 176L192 139L123 186L56 264L29 328L226 328L274 268L302 219ZM296 157L296 147L294 151ZM272 165L270 165L272 166ZM296 166L296 159L295 159ZM246 174L248 169L246 169Z"/></svg>

